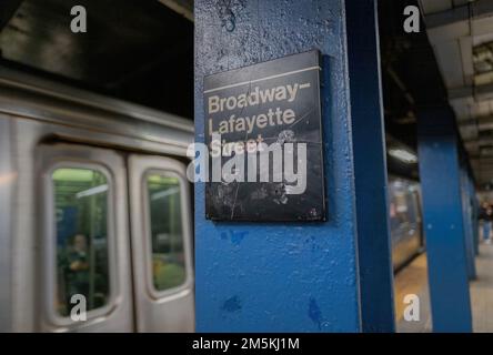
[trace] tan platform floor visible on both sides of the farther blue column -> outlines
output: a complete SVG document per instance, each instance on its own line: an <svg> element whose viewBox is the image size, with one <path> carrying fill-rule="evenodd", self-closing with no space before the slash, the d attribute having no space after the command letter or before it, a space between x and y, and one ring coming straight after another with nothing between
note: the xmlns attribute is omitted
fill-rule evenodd
<svg viewBox="0 0 493 355"><path fill-rule="evenodd" d="M493 244L481 243L476 257L475 281L470 283L473 312L473 331L493 332ZM420 297L420 321L404 320L404 296ZM426 255L421 254L394 277L395 323L399 333L423 333L432 331L430 294L427 288Z"/></svg>

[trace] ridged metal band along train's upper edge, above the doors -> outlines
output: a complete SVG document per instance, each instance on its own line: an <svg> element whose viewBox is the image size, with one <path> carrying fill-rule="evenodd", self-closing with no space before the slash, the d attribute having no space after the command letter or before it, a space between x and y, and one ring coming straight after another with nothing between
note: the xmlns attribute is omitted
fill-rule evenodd
<svg viewBox="0 0 493 355"><path fill-rule="evenodd" d="M1 68L0 112L90 131L83 138L94 144L184 155L193 142L188 120ZM78 139L62 129L52 134Z"/></svg>

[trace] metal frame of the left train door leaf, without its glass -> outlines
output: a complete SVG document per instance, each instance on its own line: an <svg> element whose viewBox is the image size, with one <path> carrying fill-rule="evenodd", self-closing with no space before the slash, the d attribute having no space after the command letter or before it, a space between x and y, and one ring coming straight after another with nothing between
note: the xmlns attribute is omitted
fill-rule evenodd
<svg viewBox="0 0 493 355"><path fill-rule="evenodd" d="M42 301L36 323L37 331L90 331L130 332L133 329L132 282L130 243L128 231L127 176L123 156L111 150L84 145L41 145L37 149L38 226L42 226L42 237L36 248L37 265L36 292ZM54 221L54 192L52 173L59 168L85 168L102 172L109 185L108 205L108 250L110 297L107 305L88 312L88 320L73 322L61 317L54 310L57 290L57 241Z"/></svg>

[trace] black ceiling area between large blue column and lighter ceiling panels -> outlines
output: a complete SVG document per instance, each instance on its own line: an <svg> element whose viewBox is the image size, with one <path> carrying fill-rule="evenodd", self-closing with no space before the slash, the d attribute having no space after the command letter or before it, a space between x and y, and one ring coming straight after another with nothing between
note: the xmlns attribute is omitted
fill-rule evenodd
<svg viewBox="0 0 493 355"><path fill-rule="evenodd" d="M426 32L403 30L406 6L416 0L379 0L381 72L388 152L417 155L416 118L420 108L447 105L446 89ZM391 174L419 179L417 163L388 155Z"/></svg>

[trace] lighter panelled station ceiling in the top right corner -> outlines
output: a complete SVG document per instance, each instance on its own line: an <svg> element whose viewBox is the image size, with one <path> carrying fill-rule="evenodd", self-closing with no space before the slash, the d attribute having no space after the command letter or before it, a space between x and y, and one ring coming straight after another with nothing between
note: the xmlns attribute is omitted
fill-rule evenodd
<svg viewBox="0 0 493 355"><path fill-rule="evenodd" d="M421 0L476 183L493 186L493 1Z"/></svg>

